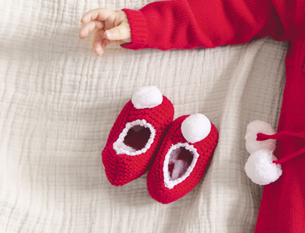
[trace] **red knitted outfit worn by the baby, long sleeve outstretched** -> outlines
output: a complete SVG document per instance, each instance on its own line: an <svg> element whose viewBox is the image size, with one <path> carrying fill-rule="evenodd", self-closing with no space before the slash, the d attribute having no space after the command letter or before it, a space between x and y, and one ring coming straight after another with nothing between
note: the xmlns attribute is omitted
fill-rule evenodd
<svg viewBox="0 0 305 233"><path fill-rule="evenodd" d="M271 36L288 40L286 84L278 132L305 130L304 0L170 0L123 9L131 27L128 49L192 49L246 43ZM304 139L279 141L283 158ZM305 232L305 157L282 163L283 175L264 186L255 232Z"/></svg>

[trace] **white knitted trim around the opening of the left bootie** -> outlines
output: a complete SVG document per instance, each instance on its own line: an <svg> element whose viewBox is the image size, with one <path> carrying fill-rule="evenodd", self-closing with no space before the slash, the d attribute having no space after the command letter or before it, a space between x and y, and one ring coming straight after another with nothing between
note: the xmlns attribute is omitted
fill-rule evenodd
<svg viewBox="0 0 305 233"><path fill-rule="evenodd" d="M138 151L136 151L134 148L130 146L127 146L124 143L124 138L126 137L128 130L133 126L143 126L145 128L149 128L150 130L150 136L145 147L143 147L141 150ZM133 122L128 122L125 128L123 129L123 131L120 133L119 138L113 143L113 149L117 152L118 155L119 154L126 154L131 156L140 155L145 153L149 149L149 147L153 143L155 136L156 136L156 129L151 124L147 123L144 119L142 120L138 119Z"/></svg>

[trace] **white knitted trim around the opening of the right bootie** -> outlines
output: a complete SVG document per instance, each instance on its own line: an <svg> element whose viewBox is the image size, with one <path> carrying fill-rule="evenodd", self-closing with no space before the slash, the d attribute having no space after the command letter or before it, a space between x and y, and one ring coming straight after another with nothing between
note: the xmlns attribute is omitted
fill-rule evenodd
<svg viewBox="0 0 305 233"><path fill-rule="evenodd" d="M183 174L182 177L179 177L178 179L176 180L170 180L170 175L169 175L169 171L168 171L168 163L169 163L169 159L170 159L170 154L180 148L180 147L184 147L186 150L192 152L193 154L193 160L192 160L192 163L191 165L188 167L188 169L186 170L186 172ZM188 143L177 143L175 145L172 145L170 147L170 149L167 151L167 154L165 155L165 159L164 159L164 163L163 163L163 177L164 177L164 184L165 184L165 187L169 188L169 189L172 189L175 185L181 183L182 181L184 181L190 174L191 172L193 171L195 165L196 165L196 162L197 162L197 159L199 157L199 154L196 150L196 148L194 148L193 145L189 145Z"/></svg>

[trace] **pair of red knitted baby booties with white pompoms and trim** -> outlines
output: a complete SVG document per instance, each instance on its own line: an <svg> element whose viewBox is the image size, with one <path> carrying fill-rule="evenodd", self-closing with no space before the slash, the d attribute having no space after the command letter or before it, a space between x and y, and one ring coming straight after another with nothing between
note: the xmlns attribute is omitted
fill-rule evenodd
<svg viewBox="0 0 305 233"><path fill-rule="evenodd" d="M133 93L102 151L111 184L127 184L149 170L149 194L163 204L198 184L217 144L217 129L203 114L173 117L173 104L157 87Z"/></svg>

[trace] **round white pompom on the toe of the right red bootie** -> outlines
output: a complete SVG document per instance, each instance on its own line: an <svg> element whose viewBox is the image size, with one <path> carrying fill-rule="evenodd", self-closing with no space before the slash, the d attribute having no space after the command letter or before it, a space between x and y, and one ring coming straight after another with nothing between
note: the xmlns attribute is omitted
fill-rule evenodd
<svg viewBox="0 0 305 233"><path fill-rule="evenodd" d="M190 143L203 140L211 131L211 122L203 114L188 116L181 124L183 137Z"/></svg>

